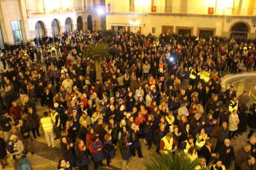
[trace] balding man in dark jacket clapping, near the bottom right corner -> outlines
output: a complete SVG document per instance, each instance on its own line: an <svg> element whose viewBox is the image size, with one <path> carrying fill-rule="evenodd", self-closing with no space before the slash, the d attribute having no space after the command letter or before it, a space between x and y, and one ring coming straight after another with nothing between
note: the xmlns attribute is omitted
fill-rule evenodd
<svg viewBox="0 0 256 170"><path fill-rule="evenodd" d="M220 154L223 164L228 169L231 166L231 161L235 158L234 148L233 146L230 146L229 139L225 139L225 142L221 145L218 153Z"/></svg>

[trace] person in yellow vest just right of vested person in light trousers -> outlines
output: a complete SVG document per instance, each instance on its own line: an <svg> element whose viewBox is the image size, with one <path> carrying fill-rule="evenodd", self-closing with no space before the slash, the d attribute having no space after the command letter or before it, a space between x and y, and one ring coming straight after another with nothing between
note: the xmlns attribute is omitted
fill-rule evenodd
<svg viewBox="0 0 256 170"><path fill-rule="evenodd" d="M54 103L54 107L51 108L51 118L54 123L54 132L56 137L54 139L59 139L60 134L60 114L56 111L56 108L59 107L58 103Z"/></svg>

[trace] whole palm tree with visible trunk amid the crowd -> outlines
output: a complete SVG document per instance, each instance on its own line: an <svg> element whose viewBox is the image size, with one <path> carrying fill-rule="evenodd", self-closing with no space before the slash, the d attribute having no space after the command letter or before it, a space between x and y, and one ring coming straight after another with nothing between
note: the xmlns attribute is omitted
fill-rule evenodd
<svg viewBox="0 0 256 170"><path fill-rule="evenodd" d="M100 42L89 44L83 49L83 57L90 58L95 61L96 77L100 82L102 82L100 61L104 58L108 58L109 56L109 46L106 43Z"/></svg>

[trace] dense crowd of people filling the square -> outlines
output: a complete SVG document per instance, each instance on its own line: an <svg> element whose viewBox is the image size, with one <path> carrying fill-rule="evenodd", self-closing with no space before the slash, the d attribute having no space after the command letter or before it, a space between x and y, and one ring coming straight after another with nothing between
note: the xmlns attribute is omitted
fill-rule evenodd
<svg viewBox="0 0 256 170"><path fill-rule="evenodd" d="M111 55L100 61L102 81L84 53L99 42L108 43ZM112 169L116 150L122 169L129 169L129 158L143 158L142 144L156 153L179 150L199 158L196 169L224 170L233 160L237 170L255 169L256 102L248 105L246 91L237 96L233 86L221 87L227 73L255 71L255 57L250 40L125 31L6 43L0 52L0 163L4 168L10 155L17 168L26 153L33 155L42 125L49 147L60 139L61 170L88 169L90 162L94 169ZM38 105L49 108L43 118ZM235 153L230 141L247 124L248 141Z"/></svg>

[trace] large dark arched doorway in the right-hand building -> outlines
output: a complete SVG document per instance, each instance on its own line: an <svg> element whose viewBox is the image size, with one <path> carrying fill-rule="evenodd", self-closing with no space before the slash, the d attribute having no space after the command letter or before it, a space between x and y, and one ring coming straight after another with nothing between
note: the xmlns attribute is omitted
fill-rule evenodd
<svg viewBox="0 0 256 170"><path fill-rule="evenodd" d="M249 33L249 27L243 22L234 24L230 30L230 38L247 38Z"/></svg>

